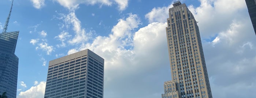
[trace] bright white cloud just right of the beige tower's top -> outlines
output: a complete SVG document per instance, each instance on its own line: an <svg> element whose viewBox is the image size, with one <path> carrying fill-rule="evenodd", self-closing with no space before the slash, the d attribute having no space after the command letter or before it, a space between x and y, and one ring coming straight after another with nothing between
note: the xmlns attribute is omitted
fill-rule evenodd
<svg viewBox="0 0 256 98"><path fill-rule="evenodd" d="M201 5L194 7L189 5L189 10L194 18L199 21L201 37L209 38L229 28L234 19L243 19L248 14L245 1L243 0L200 0ZM232 3L232 4L230 4ZM226 4L229 4L225 6ZM242 13L242 14L237 14ZM215 24L212 26L212 24ZM218 28L218 29L212 29Z"/></svg>

